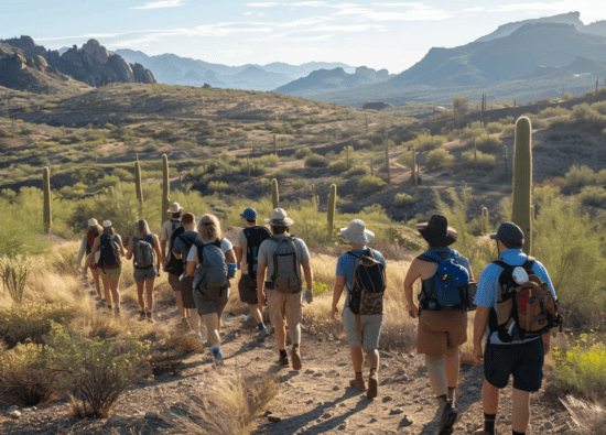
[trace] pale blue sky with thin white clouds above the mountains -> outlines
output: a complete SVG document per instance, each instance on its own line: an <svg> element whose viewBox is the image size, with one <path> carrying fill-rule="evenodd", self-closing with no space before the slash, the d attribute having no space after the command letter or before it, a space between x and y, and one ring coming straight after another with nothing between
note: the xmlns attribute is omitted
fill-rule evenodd
<svg viewBox="0 0 606 435"><path fill-rule="evenodd" d="M432 46L466 44L500 24L581 12L606 20L606 0L13 0L0 37L48 48L95 37L109 50L174 53L227 65L344 62L399 73Z"/></svg>

